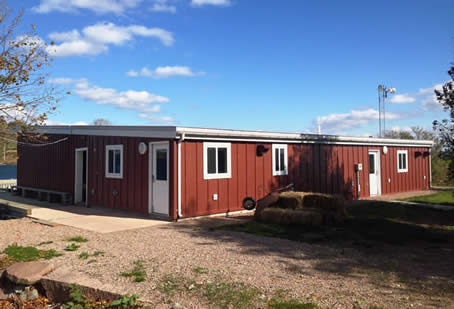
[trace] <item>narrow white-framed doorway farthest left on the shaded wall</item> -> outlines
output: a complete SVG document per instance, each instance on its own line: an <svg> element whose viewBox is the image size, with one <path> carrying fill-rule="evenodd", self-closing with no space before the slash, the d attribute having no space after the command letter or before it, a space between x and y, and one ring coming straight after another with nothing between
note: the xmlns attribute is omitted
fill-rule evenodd
<svg viewBox="0 0 454 309"><path fill-rule="evenodd" d="M88 151L77 148L75 152L74 204L88 204Z"/></svg>

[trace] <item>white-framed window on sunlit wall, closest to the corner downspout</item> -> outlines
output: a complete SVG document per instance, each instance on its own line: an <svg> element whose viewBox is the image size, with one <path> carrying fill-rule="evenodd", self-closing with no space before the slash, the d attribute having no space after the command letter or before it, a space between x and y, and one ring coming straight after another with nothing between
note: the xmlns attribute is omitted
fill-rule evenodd
<svg viewBox="0 0 454 309"><path fill-rule="evenodd" d="M230 178L230 143L203 143L204 179Z"/></svg>

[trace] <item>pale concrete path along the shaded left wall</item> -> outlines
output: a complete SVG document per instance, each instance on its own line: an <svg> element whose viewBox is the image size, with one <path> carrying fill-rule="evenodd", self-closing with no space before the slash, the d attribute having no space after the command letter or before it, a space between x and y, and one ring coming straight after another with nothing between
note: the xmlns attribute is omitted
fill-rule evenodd
<svg viewBox="0 0 454 309"><path fill-rule="evenodd" d="M170 223L126 211L50 204L9 193L0 194L0 204L16 210L24 209L28 217L52 225L68 225L97 233L120 232Z"/></svg>

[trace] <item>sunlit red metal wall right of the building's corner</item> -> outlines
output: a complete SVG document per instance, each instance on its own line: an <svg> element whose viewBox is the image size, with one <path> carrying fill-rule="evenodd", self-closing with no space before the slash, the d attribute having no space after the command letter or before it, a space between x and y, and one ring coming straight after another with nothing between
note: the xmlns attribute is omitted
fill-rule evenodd
<svg viewBox="0 0 454 309"><path fill-rule="evenodd" d="M242 209L245 197L260 199L271 190L294 183L299 191L341 194L357 197L354 164L362 163L361 197L369 196L369 150L379 150L382 194L425 190L429 187L427 148L303 144L288 145L287 176L272 175L271 144L262 157L256 143L232 143L232 177L204 180L203 142L182 144L183 216L200 216ZM408 150L408 172L397 173L397 150ZM426 153L426 155L424 155ZM417 155L420 154L420 155ZM425 179L424 179L425 176ZM218 200L213 200L218 194Z"/></svg>

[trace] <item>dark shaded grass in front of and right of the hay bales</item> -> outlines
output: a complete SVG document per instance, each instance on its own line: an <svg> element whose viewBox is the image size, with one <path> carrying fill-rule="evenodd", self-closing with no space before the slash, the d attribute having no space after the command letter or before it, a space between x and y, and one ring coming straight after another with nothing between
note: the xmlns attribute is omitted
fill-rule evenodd
<svg viewBox="0 0 454 309"><path fill-rule="evenodd" d="M309 243L349 241L359 246L373 246L371 242L392 245L405 245L413 241L445 243L452 238L454 211L441 212L417 206L368 201L350 207L348 212L349 218L340 228L249 221L214 229Z"/></svg>

